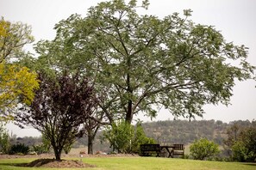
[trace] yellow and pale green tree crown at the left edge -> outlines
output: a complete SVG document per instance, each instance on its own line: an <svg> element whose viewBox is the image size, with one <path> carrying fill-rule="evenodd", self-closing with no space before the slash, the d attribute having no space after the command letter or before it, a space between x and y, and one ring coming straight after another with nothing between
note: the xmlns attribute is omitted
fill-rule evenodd
<svg viewBox="0 0 256 170"><path fill-rule="evenodd" d="M4 120L9 118L9 111L17 103L29 105L34 89L39 87L35 72L13 64L24 56L22 47L33 41L30 33L27 25L0 20L0 117Z"/></svg>

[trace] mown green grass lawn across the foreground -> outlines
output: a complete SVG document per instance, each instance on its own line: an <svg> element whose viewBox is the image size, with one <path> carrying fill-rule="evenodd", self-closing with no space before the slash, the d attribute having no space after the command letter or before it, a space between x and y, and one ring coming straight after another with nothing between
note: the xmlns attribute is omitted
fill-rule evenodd
<svg viewBox="0 0 256 170"><path fill-rule="evenodd" d="M78 160L78 159L77 159ZM49 168L42 167L16 167L18 163L28 163L34 161L33 158L17 158L17 159L5 159L0 160L1 170L43 170ZM93 170L105 170L105 169L209 169L209 170L255 170L256 163L240 163L240 162L222 162L222 161L194 161L184 159L171 159L171 158L155 158L155 157L90 157L83 158L85 163L96 165L97 167L92 168L61 168L61 170L80 170L80 169L93 169ZM56 168L51 168L56 170Z"/></svg>

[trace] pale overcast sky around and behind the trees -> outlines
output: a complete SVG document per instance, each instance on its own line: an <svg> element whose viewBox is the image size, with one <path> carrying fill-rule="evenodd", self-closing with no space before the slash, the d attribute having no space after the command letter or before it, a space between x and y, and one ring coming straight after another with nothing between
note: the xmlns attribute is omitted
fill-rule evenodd
<svg viewBox="0 0 256 170"><path fill-rule="evenodd" d="M77 13L86 15L87 9L100 0L0 0L0 16L7 21L22 21L32 26L35 42L53 39L54 24ZM140 1L138 1L140 2ZM183 14L183 9L192 9L190 17L196 23L215 26L227 41L249 47L248 61L256 65L256 1L254 0L150 0L147 14L164 17L173 12ZM28 46L28 49L31 49ZM205 106L206 114L201 119L229 122L256 119L256 82L236 82L230 106ZM145 121L149 118L139 117ZM160 111L153 120L172 119L166 111ZM20 130L12 124L9 131L19 137L39 135L32 129Z"/></svg>

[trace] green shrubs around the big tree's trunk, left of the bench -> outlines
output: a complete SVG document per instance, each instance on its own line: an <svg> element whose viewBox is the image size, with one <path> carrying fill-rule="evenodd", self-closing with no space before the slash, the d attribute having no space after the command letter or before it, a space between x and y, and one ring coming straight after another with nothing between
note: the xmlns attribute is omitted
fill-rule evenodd
<svg viewBox="0 0 256 170"><path fill-rule="evenodd" d="M113 151L117 149L118 153L139 153L140 144L154 143L152 138L146 137L140 124L135 130L133 125L124 120L107 127L103 139L108 140Z"/></svg>

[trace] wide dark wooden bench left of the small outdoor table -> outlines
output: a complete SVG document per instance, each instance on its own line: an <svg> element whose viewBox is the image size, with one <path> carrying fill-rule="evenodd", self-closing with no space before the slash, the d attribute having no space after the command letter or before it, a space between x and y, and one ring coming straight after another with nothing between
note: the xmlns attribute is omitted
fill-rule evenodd
<svg viewBox="0 0 256 170"><path fill-rule="evenodd" d="M140 156L152 156L159 157L161 148L159 144L140 144Z"/></svg>

